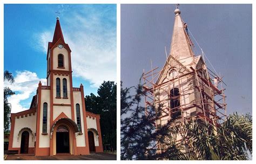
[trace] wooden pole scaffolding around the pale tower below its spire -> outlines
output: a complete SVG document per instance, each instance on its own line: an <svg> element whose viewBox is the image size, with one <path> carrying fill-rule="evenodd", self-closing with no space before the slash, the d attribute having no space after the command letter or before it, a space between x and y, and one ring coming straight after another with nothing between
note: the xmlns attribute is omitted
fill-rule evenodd
<svg viewBox="0 0 256 164"><path fill-rule="evenodd" d="M197 119L216 127L226 120L224 82L206 67L203 51L201 55L187 59L176 59L171 54L167 57L166 54L165 66L160 70L153 68L151 61L151 70L143 70L143 80L146 115L150 106L156 109L162 106L161 115L155 118L157 128L172 120L184 123ZM171 93L173 88L178 88L178 95ZM179 104L172 105L173 99Z"/></svg>

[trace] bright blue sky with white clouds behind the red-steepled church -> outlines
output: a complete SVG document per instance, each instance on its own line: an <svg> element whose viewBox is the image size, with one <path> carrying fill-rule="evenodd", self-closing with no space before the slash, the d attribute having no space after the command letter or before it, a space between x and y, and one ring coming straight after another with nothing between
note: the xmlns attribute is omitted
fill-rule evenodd
<svg viewBox="0 0 256 164"><path fill-rule="evenodd" d="M56 13L56 12L59 12ZM97 95L105 81L116 81L115 4L5 4L4 70L15 76L12 112L29 108L39 80L46 78L46 50L56 17L71 48L73 87Z"/></svg>

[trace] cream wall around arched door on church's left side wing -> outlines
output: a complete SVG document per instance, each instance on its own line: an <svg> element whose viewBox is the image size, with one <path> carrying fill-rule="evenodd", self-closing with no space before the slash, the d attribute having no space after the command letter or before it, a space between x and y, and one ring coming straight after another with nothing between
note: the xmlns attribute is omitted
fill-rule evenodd
<svg viewBox="0 0 256 164"><path fill-rule="evenodd" d="M34 124L31 124L34 123ZM36 113L35 115L27 115L27 117L15 117L15 126L14 126L14 139L12 142L12 147L21 147L21 137L22 137L22 132L19 133L20 130L22 130L24 127L28 127L29 129L32 130L33 136L30 131L29 132L29 147L35 147L35 132L36 132ZM18 136L19 133L19 136Z"/></svg>

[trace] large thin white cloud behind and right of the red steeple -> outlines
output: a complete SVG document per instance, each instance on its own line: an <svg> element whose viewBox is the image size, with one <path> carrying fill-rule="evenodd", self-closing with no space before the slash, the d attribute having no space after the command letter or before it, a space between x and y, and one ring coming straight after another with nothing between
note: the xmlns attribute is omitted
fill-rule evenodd
<svg viewBox="0 0 256 164"><path fill-rule="evenodd" d="M91 10L86 8L79 13L69 13L60 18L60 24L65 42L72 51L73 76L89 81L91 87L99 87L104 80L116 81L116 28L106 23L105 15L109 9ZM113 18L109 19L111 22ZM45 55L53 32L36 34L39 38L37 45Z"/></svg>

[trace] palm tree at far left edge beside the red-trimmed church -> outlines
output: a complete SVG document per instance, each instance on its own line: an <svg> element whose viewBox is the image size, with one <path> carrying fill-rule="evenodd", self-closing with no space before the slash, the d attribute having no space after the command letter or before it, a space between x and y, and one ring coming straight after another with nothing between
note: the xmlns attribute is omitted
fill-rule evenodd
<svg viewBox="0 0 256 164"><path fill-rule="evenodd" d="M4 81L14 83L14 76L8 70L4 71ZM8 132L10 127L11 104L8 103L8 97L14 94L9 87L4 87L4 132Z"/></svg>

